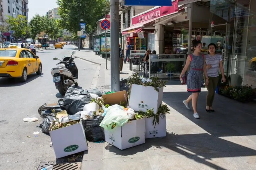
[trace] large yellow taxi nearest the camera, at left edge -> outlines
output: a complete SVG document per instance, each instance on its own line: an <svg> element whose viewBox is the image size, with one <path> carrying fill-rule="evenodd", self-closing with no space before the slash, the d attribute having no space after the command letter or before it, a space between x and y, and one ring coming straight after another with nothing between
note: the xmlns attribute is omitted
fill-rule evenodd
<svg viewBox="0 0 256 170"><path fill-rule="evenodd" d="M29 74L42 74L42 63L28 49L9 46L0 49L0 77L20 77L22 82L27 81Z"/></svg>

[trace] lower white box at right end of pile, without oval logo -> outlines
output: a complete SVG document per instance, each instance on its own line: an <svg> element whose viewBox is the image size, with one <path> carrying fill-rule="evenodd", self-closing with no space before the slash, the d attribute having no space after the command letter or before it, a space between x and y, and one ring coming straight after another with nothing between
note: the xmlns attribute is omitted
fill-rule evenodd
<svg viewBox="0 0 256 170"><path fill-rule="evenodd" d="M160 114L159 124L153 126L154 117L146 118L146 139L166 136L166 115Z"/></svg>

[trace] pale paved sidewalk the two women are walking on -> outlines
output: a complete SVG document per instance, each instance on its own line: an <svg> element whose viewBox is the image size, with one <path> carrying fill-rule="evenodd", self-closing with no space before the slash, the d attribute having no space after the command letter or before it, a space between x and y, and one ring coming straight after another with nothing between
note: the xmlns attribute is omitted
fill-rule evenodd
<svg viewBox="0 0 256 170"><path fill-rule="evenodd" d="M76 54L99 62L99 72L105 76L99 82L110 84L105 59L90 50ZM128 70L124 72L129 73ZM130 73L122 76L128 75ZM206 94L203 88L197 108L201 118L195 119L193 111L182 103L189 95L186 86L169 82L163 95L163 102L171 110L166 116L167 136L146 139L146 143L125 150L107 142L89 142L82 170L255 170L255 103L243 104L216 94L215 112L208 113L205 111Z"/></svg>

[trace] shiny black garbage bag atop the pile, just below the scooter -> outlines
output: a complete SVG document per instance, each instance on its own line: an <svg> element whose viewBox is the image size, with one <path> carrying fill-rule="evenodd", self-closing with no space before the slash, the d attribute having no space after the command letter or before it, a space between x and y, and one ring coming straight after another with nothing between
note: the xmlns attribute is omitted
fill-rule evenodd
<svg viewBox="0 0 256 170"><path fill-rule="evenodd" d="M68 87L63 99L59 99L58 103L61 109L67 110L69 115L73 115L83 110L83 106L92 101L86 89L76 89Z"/></svg>

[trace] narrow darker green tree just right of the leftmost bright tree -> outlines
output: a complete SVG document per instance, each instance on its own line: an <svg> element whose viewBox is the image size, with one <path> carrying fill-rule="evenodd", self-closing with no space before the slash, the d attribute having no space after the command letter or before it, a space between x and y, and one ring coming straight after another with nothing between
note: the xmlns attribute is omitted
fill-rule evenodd
<svg viewBox="0 0 256 170"><path fill-rule="evenodd" d="M43 17L36 14L30 20L29 26L31 27L32 38L35 39L36 35L40 34L43 31Z"/></svg>

